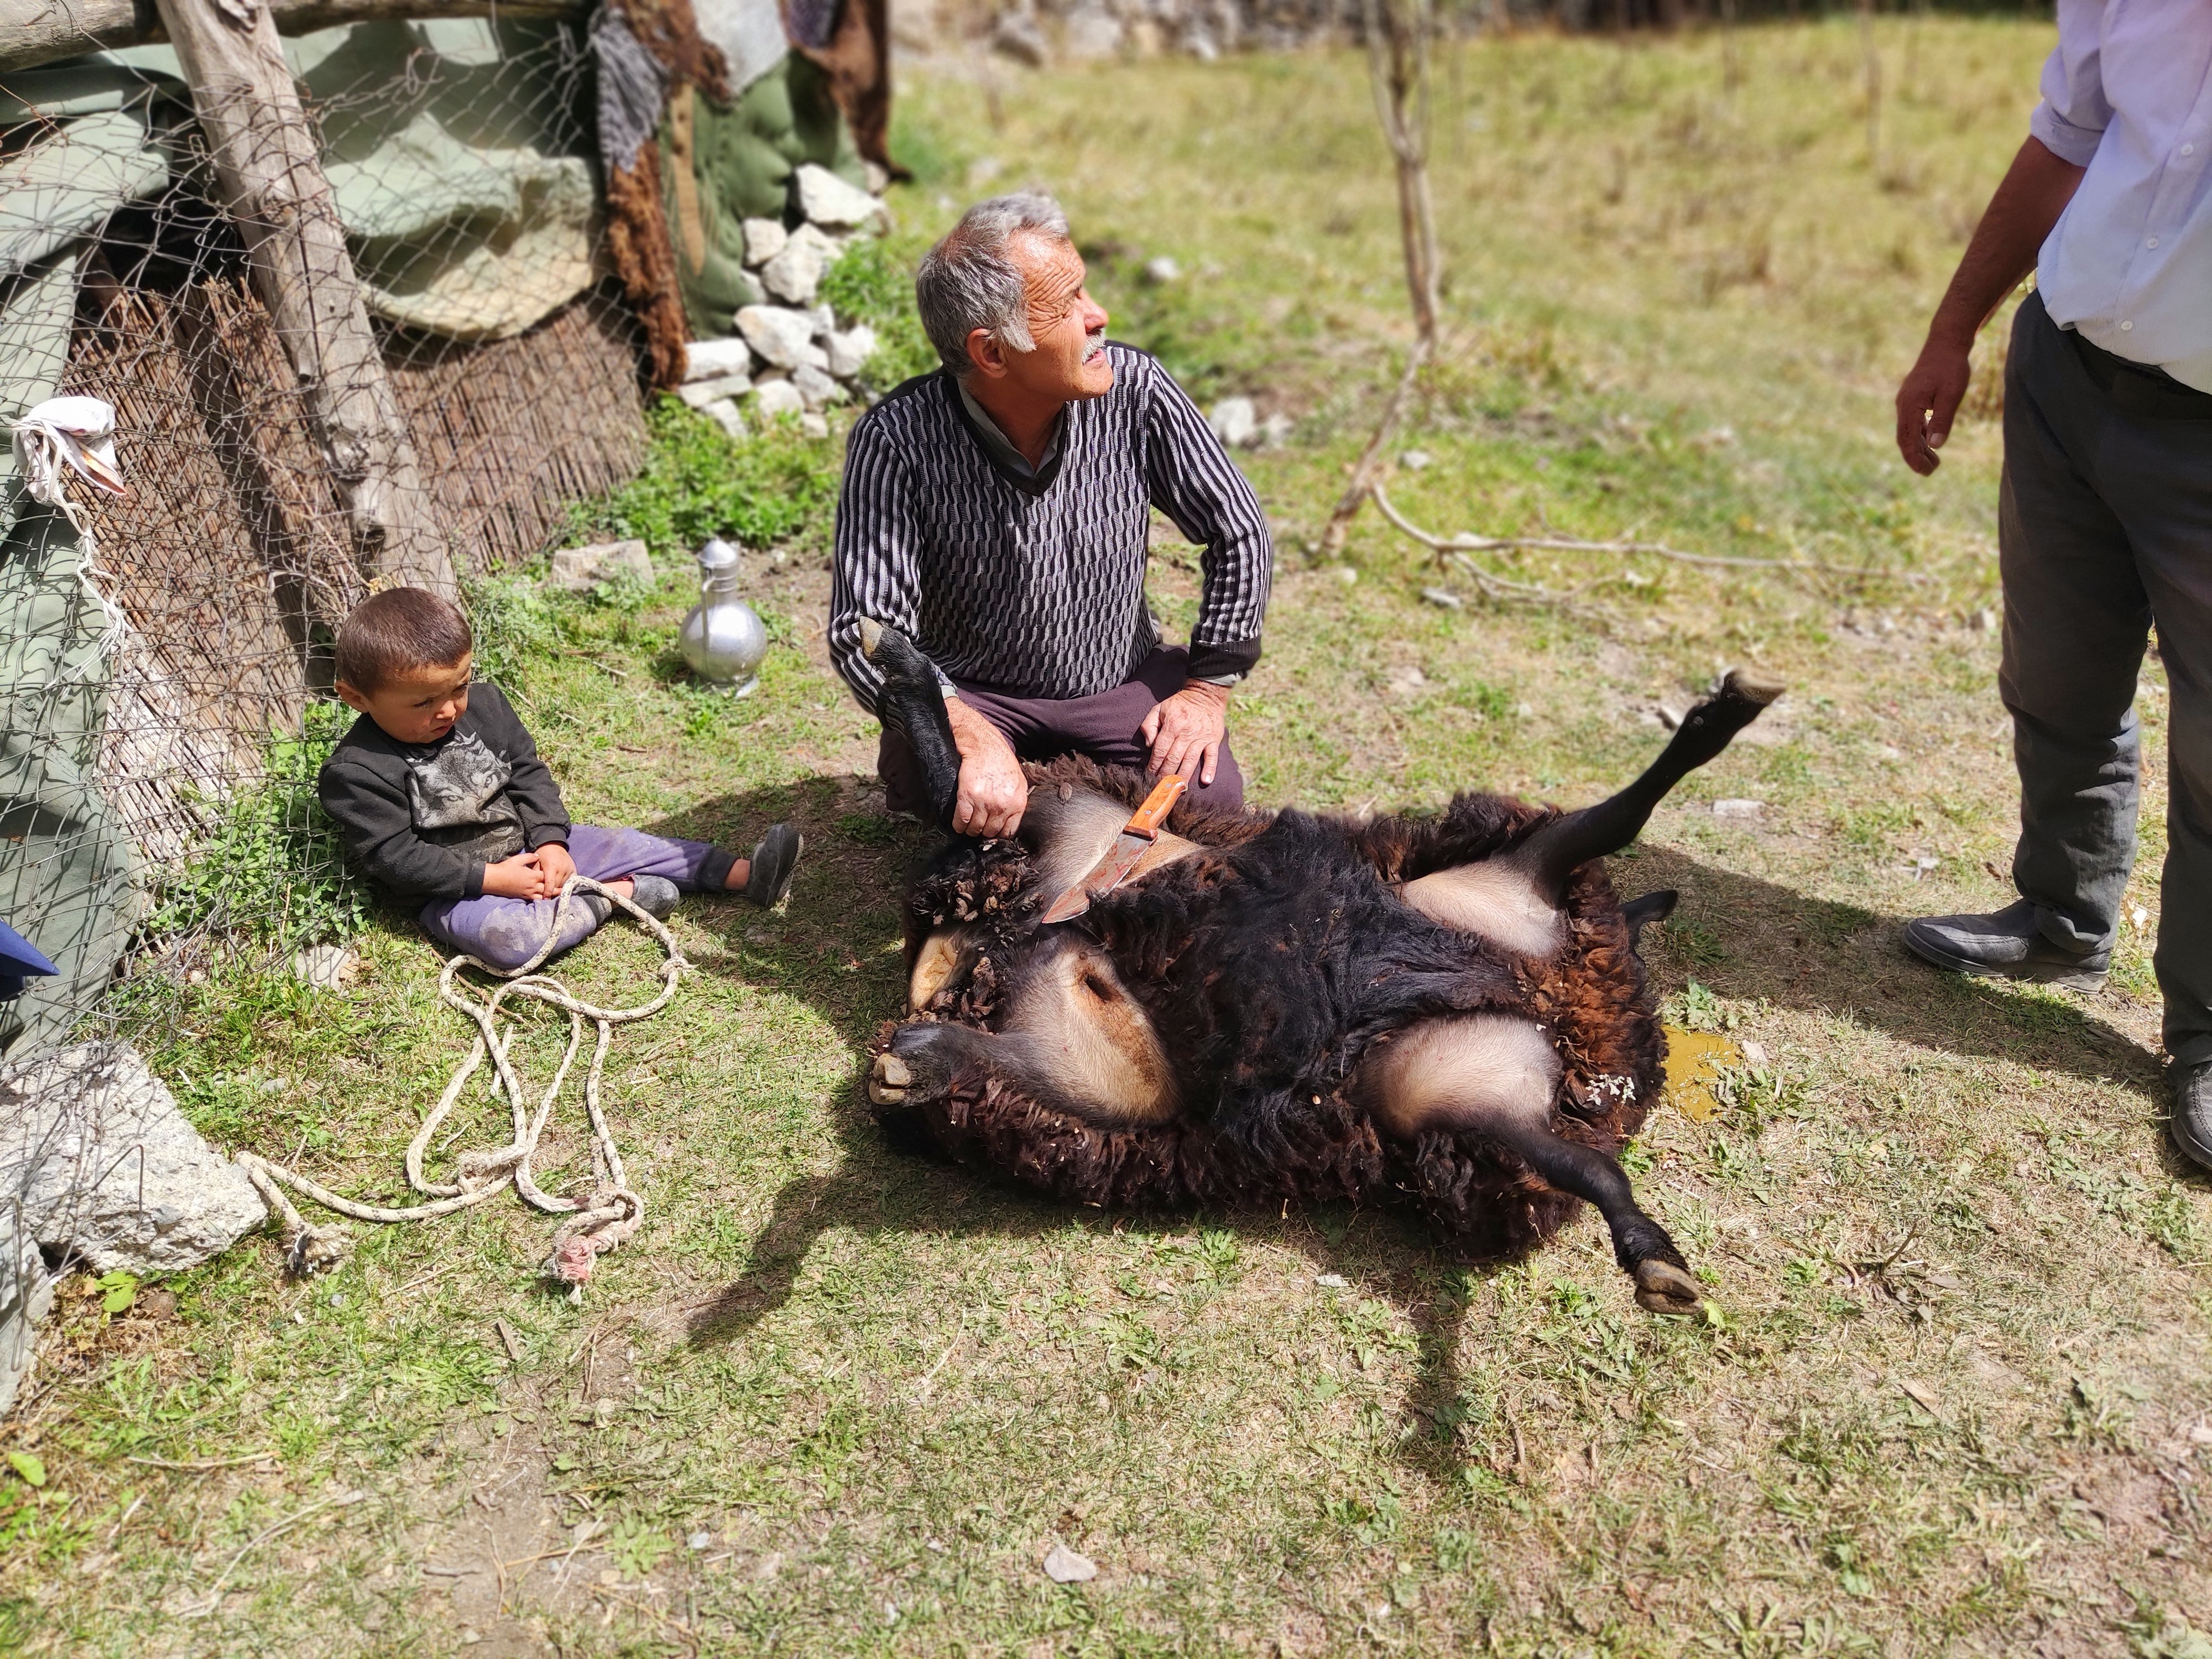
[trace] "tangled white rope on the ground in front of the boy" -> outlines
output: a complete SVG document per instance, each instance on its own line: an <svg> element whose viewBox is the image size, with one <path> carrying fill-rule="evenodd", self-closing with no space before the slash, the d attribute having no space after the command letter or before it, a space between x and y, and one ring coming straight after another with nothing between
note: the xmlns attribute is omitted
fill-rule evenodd
<svg viewBox="0 0 2212 1659"><path fill-rule="evenodd" d="M655 938L659 938L661 949L668 951L668 960L661 962L661 991L650 1002L639 1002L633 1009L602 1009L571 993L568 987L553 975L535 971L538 964L553 953L568 905L580 902L577 896L584 891L602 894L611 902L626 909L639 922L650 927ZM465 967L482 969L484 973L502 980L502 984L495 987L489 998L469 995L467 984L456 984L453 978ZM615 1040L615 1026L650 1020L668 1006L668 1000L677 993L677 980L688 967L690 962L684 960L684 951L677 949L675 938L670 938L657 916L650 916L635 900L611 891L588 876L571 876L562 885L560 898L553 907L553 927L546 931L546 942L540 945L538 953L522 967L498 969L467 953L451 958L438 973L438 1000L476 1024L476 1042L469 1044L469 1055L453 1071L451 1082L447 1082L445 1093L438 1097L438 1106L422 1119L422 1128L418 1128L416 1137L407 1144L407 1183L416 1192L427 1194L431 1199L429 1203L361 1203L358 1199L332 1192L323 1183L312 1181L296 1170L272 1164L257 1152L239 1152L239 1168L246 1170L263 1201L268 1201L270 1214L281 1217L285 1228L292 1230L290 1270L296 1276L307 1276L336 1267L352 1241L343 1228L307 1225L301 1212L283 1194L283 1188L292 1188L294 1192L314 1199L325 1210L336 1210L338 1214L354 1217L356 1221L383 1223L431 1221L442 1214L469 1210L495 1192L513 1188L522 1194L524 1203L531 1203L549 1214L566 1217L553 1234L553 1254L546 1261L546 1270L571 1287L568 1294L573 1298L582 1301L584 1283L591 1279L597 1256L617 1248L624 1239L637 1232L646 1217L646 1201L628 1186L628 1177L622 1170L622 1152L615 1148L615 1135L606 1126L606 1113L599 1106L599 1077L606 1071L606 1051ZM513 1024L507 1026L504 1035L498 1031L500 1004L509 995L546 1002L568 1015L568 1046L562 1051L560 1066L553 1068L553 1079L538 1097L535 1113L529 1113L522 1104L522 1079L515 1075L513 1060L509 1057L509 1048L513 1046ZM531 1177L531 1159L538 1155L538 1141L544 1135L546 1119L553 1115L553 1102L560 1097L562 1084L568 1079L568 1068L575 1064L575 1055L584 1046L586 1020L597 1026L591 1071L584 1073L584 1113L591 1117L591 1161L595 1179L584 1199L557 1199L538 1188L538 1181ZM509 1139L507 1146L462 1152L456 1161L451 1181L431 1181L422 1172L422 1155L429 1148L431 1137L438 1133L438 1126L447 1119L447 1113L451 1113L453 1104L460 1099L460 1091L467 1088L478 1066L484 1064L484 1055L491 1055L495 1073L493 1093L507 1095L507 1106L513 1115L513 1139Z"/></svg>

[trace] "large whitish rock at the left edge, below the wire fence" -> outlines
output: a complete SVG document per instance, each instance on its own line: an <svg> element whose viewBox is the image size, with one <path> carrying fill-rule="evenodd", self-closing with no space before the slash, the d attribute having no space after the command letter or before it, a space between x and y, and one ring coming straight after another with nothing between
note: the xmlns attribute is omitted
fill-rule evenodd
<svg viewBox="0 0 2212 1659"><path fill-rule="evenodd" d="M0 1075L0 1192L22 1194L38 1243L93 1272L195 1267L268 1221L246 1172L124 1042Z"/></svg>

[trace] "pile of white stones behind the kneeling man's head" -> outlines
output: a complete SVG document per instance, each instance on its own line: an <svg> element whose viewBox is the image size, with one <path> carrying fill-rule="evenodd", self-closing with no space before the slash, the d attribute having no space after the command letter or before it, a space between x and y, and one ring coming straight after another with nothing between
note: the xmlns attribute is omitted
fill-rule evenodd
<svg viewBox="0 0 2212 1659"><path fill-rule="evenodd" d="M739 400L748 396L754 420L796 414L807 434L827 436L823 409L860 396L860 365L876 349L867 323L838 327L836 312L818 294L838 254L874 234L883 201L807 164L796 173L792 204L801 215L796 230L781 219L745 221L745 270L763 299L737 312L737 334L692 341L677 387L684 403L712 416L732 438L745 431Z"/></svg>

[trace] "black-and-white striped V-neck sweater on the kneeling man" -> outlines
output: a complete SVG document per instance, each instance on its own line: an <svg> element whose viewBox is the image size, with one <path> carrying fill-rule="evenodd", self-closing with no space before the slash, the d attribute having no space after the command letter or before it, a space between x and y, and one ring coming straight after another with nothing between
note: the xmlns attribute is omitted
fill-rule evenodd
<svg viewBox="0 0 2212 1659"><path fill-rule="evenodd" d="M1091 697L1159 646L1144 602L1148 507L1199 542L1190 677L1259 661L1274 546L1259 498L1175 378L1106 347L1113 392L1071 403L1029 478L998 462L942 369L863 416L836 511L830 657L876 708L860 617L909 635L951 679L1011 697Z"/></svg>

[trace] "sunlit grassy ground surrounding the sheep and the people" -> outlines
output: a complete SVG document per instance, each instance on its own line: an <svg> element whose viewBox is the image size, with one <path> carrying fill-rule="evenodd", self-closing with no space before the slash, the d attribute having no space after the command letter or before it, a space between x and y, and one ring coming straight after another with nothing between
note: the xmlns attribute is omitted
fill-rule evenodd
<svg viewBox="0 0 2212 1659"><path fill-rule="evenodd" d="M2090 998L1938 978L1896 942L1905 916L2004 891L2013 785L1973 626L1995 431L1964 425L1929 484L1885 431L2048 27L1876 38L1878 157L1849 27L1741 31L1732 95L1712 35L1440 62L1451 345L1400 445L1431 456L1394 478L1407 511L1865 571L1511 566L1597 582L1577 613L1429 604L1455 577L1374 515L1340 566L1305 553L1405 338L1356 58L1000 69L995 128L951 69L900 104L927 159L900 248L1042 179L1130 338L1294 418L1248 456L1283 542L1234 710L1259 799L1586 801L1719 661L1792 681L1617 860L1624 891L1683 894L1648 936L1672 1018L1745 1055L1712 1117L1661 1108L1630 1157L1710 1321L1639 1314L1593 1219L1464 1267L1389 1212L1064 1212L885 1148L854 1079L898 1006L911 838L823 659L823 451L732 451L664 414L648 482L580 526L655 524L635 533L672 557L785 511L774 491L807 502L745 560L779 637L761 692L681 677L675 575L482 606L577 816L810 836L785 914L679 914L697 973L617 1040L644 1230L580 1307L509 1201L361 1228L310 1285L279 1279L274 1241L119 1312L73 1283L7 1427L42 1484L0 1473L0 1641L2201 1655L2212 1197L2159 1139L2150 936ZM1159 252L1179 281L1141 279ZM1170 628L1192 564L1159 544ZM2146 726L2157 750L2163 699ZM2146 830L2130 905L2154 918ZM626 998L653 967L613 931L564 973ZM465 1048L431 984L407 920L378 916L349 991L210 978L153 1060L219 1139L394 1192ZM542 1077L555 1033L526 1024ZM504 1108L469 1110L493 1139ZM571 1117L544 1183L580 1157ZM270 1460L133 1462L248 1453ZM1051 1584L1053 1542L1099 1577Z"/></svg>

